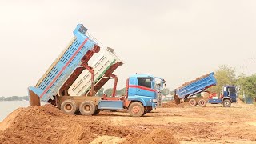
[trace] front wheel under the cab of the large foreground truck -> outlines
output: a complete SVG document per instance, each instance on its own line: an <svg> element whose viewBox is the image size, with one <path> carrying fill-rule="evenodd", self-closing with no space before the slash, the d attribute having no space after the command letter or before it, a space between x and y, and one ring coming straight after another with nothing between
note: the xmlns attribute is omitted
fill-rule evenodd
<svg viewBox="0 0 256 144"><path fill-rule="evenodd" d="M145 108L141 102L132 102L128 110L129 114L133 117L141 117L145 112Z"/></svg>

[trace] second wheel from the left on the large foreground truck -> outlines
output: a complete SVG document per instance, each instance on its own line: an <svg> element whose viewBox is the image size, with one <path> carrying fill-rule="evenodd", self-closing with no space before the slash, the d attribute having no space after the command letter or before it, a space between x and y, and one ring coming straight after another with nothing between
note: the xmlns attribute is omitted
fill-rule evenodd
<svg viewBox="0 0 256 144"><path fill-rule="evenodd" d="M80 104L79 110L82 115L93 115L96 111L96 106L94 102L85 101Z"/></svg>

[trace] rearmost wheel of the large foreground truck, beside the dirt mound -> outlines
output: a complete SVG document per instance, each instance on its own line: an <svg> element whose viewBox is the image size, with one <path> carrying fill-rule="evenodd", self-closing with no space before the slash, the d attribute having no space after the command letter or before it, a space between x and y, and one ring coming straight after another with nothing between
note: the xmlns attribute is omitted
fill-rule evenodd
<svg viewBox="0 0 256 144"><path fill-rule="evenodd" d="M78 110L78 106L73 100L67 99L62 102L61 110L66 114L74 114Z"/></svg>

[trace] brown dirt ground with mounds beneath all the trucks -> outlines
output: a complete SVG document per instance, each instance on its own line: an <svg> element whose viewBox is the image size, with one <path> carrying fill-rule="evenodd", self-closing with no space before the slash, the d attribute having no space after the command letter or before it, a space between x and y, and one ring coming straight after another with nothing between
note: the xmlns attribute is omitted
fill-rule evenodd
<svg viewBox="0 0 256 144"><path fill-rule="evenodd" d="M256 143L256 107L175 106L141 118L125 111L62 114L54 106L20 108L0 122L0 143Z"/></svg>

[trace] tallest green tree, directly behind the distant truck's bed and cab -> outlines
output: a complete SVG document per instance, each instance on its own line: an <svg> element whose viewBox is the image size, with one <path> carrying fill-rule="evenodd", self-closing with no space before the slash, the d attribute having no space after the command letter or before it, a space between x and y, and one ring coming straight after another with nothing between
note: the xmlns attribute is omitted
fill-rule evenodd
<svg viewBox="0 0 256 144"><path fill-rule="evenodd" d="M218 67L218 70L215 71L214 77L217 80L217 85L210 88L211 91L218 93L222 90L222 86L225 85L235 85L235 69L226 65Z"/></svg>

